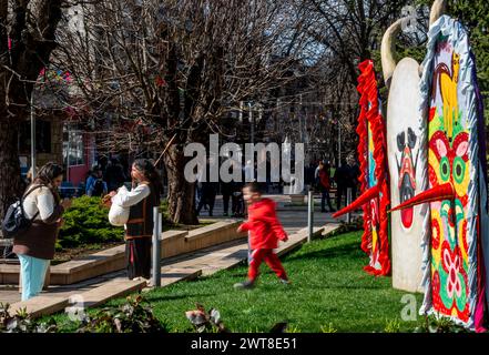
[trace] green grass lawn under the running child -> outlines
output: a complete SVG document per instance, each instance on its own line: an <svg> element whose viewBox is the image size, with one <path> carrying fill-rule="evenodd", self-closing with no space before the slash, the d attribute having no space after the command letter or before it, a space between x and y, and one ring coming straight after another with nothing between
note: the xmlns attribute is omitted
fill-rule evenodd
<svg viewBox="0 0 489 355"><path fill-rule="evenodd" d="M283 257L292 285L285 286L266 265L257 287L236 291L246 266L222 271L210 277L181 282L145 294L154 314L173 332L190 331L185 311L198 302L214 307L232 332L267 332L277 322L288 322L289 331L322 332L329 325L337 332L385 332L393 321L400 331L410 332L421 324L401 321L406 292L391 288L390 277L375 277L363 271L367 256L359 247L360 233L348 233L314 241ZM422 295L416 294L419 310ZM116 305L124 300L116 300ZM55 316L65 322L64 316Z"/></svg>

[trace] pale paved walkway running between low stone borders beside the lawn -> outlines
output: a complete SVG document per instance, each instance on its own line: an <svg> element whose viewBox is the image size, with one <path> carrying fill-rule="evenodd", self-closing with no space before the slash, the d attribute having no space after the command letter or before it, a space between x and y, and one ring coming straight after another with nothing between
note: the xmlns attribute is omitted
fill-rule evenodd
<svg viewBox="0 0 489 355"><path fill-rule="evenodd" d="M294 235L287 243L281 245L278 252L285 253L300 245L307 239L306 233L297 233L307 226L307 209L305 206L287 206L287 204L289 204L288 196L273 195L269 197L277 202L277 214L284 229L289 235ZM217 221L224 219L224 216L221 217L223 214L221 197L216 201L214 214L217 216L212 217L212 220ZM201 219L211 220L211 217L206 216L206 211L203 211ZM327 230L329 231L336 226L337 222L338 221L332 219L329 213L315 213L315 227L328 225ZM162 286L181 280L195 278L200 275L210 275L220 270L237 265L246 258L246 240L233 241L187 255L166 258L162 261ZM41 295L51 294L53 296L68 297L94 290L118 280L126 280L125 271L105 274L72 285L50 286L49 291L42 292ZM17 285L0 285L0 302L13 304L19 301L20 294Z"/></svg>

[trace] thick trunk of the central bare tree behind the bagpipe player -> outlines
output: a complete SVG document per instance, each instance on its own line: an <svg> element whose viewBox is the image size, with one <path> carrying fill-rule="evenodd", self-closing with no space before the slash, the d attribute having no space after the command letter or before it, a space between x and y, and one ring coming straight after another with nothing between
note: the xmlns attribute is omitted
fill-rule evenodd
<svg viewBox="0 0 489 355"><path fill-rule="evenodd" d="M169 178L169 214L174 223L197 224L195 211L195 184L185 180L187 158L180 144L173 144L164 155Z"/></svg>

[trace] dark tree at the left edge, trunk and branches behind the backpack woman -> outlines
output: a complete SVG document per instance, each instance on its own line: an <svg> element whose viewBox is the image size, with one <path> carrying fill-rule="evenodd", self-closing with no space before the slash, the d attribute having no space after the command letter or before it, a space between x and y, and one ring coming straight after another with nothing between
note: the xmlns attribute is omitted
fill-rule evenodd
<svg viewBox="0 0 489 355"><path fill-rule="evenodd" d="M19 123L55 48L61 0L0 1L0 216L20 193Z"/></svg>

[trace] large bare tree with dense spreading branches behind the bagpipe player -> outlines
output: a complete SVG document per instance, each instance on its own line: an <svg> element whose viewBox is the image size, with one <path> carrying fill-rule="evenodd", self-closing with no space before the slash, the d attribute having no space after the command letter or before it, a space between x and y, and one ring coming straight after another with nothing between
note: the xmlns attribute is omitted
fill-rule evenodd
<svg viewBox="0 0 489 355"><path fill-rule="evenodd" d="M183 145L225 133L221 120L283 84L302 32L286 2L266 0L105 0L81 7L82 31L59 33L57 63L79 78L85 104L101 120L151 130L151 149L172 139L164 163L169 207L195 223L194 185L184 178ZM134 143L134 132L116 141ZM134 148L136 149L136 148Z"/></svg>

